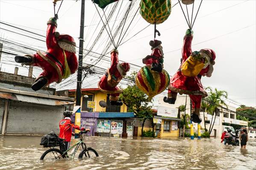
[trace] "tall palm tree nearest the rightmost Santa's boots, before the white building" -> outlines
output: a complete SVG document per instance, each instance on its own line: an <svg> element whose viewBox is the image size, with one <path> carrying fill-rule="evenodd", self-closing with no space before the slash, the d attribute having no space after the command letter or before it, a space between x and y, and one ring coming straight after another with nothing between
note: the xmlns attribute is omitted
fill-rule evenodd
<svg viewBox="0 0 256 170"><path fill-rule="evenodd" d="M211 134L214 123L215 123L215 119L216 119L216 116L217 116L218 107L224 105L226 108L228 108L227 104L224 101L224 99L227 99L228 95L227 95L227 91L218 91L217 88L212 90L212 88L208 87L206 89L210 90L209 96L205 99L205 101L209 103L206 110L207 110L208 113L211 113L212 116L215 114L214 121L213 122L211 121L211 124L210 124L210 127L209 127L209 133ZM221 108L221 111L222 111L222 108Z"/></svg>

